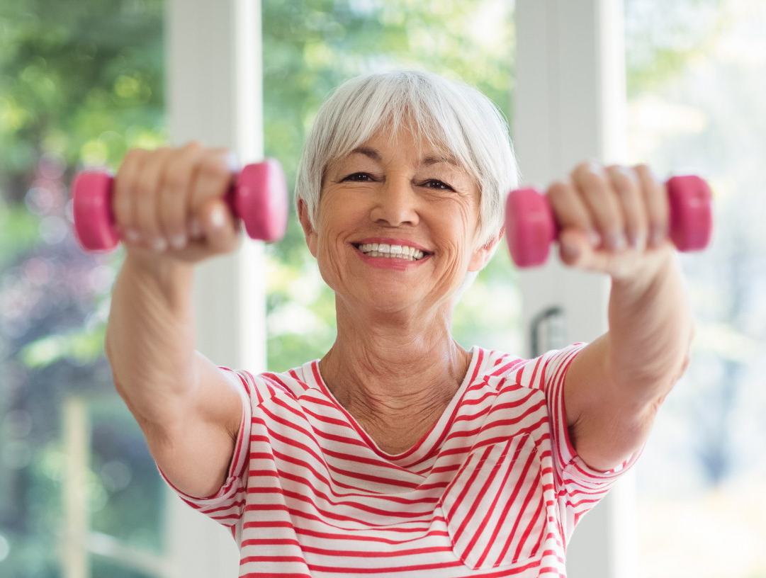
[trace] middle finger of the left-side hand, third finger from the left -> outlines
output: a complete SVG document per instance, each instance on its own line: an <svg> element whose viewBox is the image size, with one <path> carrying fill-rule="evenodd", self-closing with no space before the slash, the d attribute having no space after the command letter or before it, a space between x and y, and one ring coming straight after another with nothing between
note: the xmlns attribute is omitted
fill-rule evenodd
<svg viewBox="0 0 766 578"><path fill-rule="evenodd" d="M159 191L159 227L163 237L174 249L183 249L188 243L188 220L191 214L191 182L203 149L198 142L190 142L176 149L165 165Z"/></svg>

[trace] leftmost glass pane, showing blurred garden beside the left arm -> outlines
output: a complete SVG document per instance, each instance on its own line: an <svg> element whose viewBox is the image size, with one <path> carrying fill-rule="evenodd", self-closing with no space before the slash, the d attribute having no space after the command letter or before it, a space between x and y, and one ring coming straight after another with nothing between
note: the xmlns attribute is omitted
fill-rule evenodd
<svg viewBox="0 0 766 578"><path fill-rule="evenodd" d="M75 578L64 560L87 562L90 531L162 547L159 476L103 355L120 256L80 250L67 190L83 165L164 140L162 76L160 0L0 1L0 576ZM83 540L62 548L74 527ZM138 576L103 564L90 570Z"/></svg>

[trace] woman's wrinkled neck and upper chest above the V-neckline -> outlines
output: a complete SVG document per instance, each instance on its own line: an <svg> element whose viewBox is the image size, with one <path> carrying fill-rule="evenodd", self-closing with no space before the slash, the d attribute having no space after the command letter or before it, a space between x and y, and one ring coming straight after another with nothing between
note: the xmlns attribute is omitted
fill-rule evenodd
<svg viewBox="0 0 766 578"><path fill-rule="evenodd" d="M411 446L444 412L470 363L450 335L451 315L365 314L341 302L336 311L338 337L320 361L322 377L381 446ZM389 434L394 442L381 443Z"/></svg>

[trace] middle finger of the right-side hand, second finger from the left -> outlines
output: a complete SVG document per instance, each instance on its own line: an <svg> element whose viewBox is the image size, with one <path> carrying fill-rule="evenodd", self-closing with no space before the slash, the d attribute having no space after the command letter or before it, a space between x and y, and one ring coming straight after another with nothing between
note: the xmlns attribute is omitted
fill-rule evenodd
<svg viewBox="0 0 766 578"><path fill-rule="evenodd" d="M602 247L606 250L624 250L627 238L622 208L604 170L595 163L583 163L572 171L571 178L575 190L588 207L597 232L601 234Z"/></svg>

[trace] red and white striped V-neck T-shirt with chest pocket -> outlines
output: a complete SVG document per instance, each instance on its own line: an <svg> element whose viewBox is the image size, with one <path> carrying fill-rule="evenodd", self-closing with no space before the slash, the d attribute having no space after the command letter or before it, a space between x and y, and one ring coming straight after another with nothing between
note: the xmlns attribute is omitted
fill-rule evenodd
<svg viewBox="0 0 766 578"><path fill-rule="evenodd" d="M407 452L382 451L318 361L238 372L228 480L193 508L231 527L240 576L565 576L582 514L634 461L596 472L568 439L563 384L581 349L525 361L471 350L466 377Z"/></svg>

